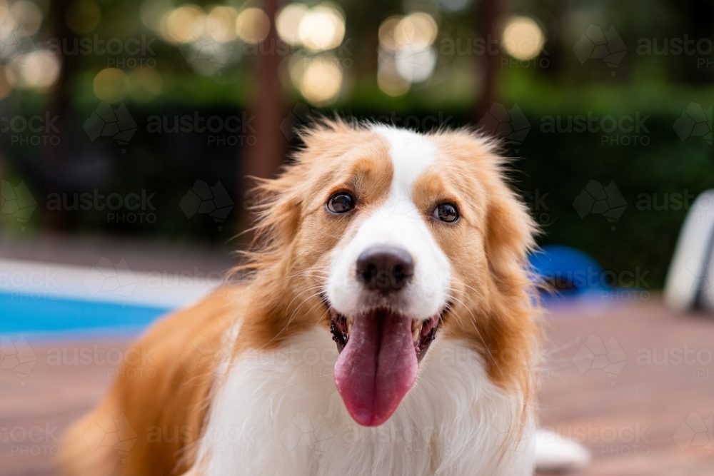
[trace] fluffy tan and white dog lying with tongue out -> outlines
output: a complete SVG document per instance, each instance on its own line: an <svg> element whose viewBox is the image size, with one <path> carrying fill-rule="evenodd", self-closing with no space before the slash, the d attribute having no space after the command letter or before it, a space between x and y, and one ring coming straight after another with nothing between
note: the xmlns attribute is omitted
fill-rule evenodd
<svg viewBox="0 0 714 476"><path fill-rule="evenodd" d="M531 475L535 224L496 142L321 121L231 281L160 320L64 437L69 475ZM132 372L134 370L134 372Z"/></svg>

